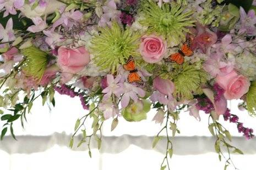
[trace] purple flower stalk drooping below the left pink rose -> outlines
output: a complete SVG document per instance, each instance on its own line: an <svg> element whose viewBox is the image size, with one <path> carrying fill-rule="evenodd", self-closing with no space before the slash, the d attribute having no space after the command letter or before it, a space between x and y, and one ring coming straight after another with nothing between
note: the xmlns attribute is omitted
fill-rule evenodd
<svg viewBox="0 0 256 170"><path fill-rule="evenodd" d="M81 105L83 106L83 109L88 110L88 105L86 105L85 103L83 94L74 92L73 89L68 88L65 84L62 84L61 87L55 87L54 89L59 94L68 95L71 98L79 97L81 101Z"/></svg>

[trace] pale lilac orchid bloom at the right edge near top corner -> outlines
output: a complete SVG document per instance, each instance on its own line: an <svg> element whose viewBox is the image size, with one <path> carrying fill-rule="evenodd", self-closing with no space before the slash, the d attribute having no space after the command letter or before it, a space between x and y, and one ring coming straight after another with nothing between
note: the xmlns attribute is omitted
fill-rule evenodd
<svg viewBox="0 0 256 170"><path fill-rule="evenodd" d="M239 34L246 33L248 36L256 35L256 16L253 9L249 10L248 14L240 7L240 23L241 28L239 29Z"/></svg>

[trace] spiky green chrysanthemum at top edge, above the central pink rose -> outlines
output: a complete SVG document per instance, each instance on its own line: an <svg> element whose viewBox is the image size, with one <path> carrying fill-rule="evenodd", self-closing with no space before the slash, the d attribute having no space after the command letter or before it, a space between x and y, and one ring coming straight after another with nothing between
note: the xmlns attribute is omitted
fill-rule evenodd
<svg viewBox="0 0 256 170"><path fill-rule="evenodd" d="M148 26L148 33L164 36L169 42L178 44L184 41L184 32L189 32L187 26L194 26L192 11L184 12L186 6L182 3L164 3L160 8L154 1L145 0L141 5L144 19L141 25Z"/></svg>

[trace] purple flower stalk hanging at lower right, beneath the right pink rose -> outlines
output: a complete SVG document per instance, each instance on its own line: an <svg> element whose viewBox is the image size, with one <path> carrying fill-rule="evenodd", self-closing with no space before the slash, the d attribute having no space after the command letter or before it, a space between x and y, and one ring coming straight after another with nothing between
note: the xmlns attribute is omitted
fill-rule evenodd
<svg viewBox="0 0 256 170"><path fill-rule="evenodd" d="M246 137L246 139L252 139L254 137L253 129L244 127L243 123L238 122L239 117L237 115L231 114L229 109L227 109L227 111L224 114L224 120L225 121L230 120L230 122L236 123L238 132L243 133L243 135L244 135L244 137Z"/></svg>

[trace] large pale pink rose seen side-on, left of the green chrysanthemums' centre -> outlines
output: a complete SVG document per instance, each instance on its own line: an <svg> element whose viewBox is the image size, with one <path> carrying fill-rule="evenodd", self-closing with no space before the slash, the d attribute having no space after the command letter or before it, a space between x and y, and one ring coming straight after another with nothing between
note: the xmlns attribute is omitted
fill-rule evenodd
<svg viewBox="0 0 256 170"><path fill-rule="evenodd" d="M90 54L85 47L69 49L59 47L57 64L63 72L78 73L90 62Z"/></svg>

